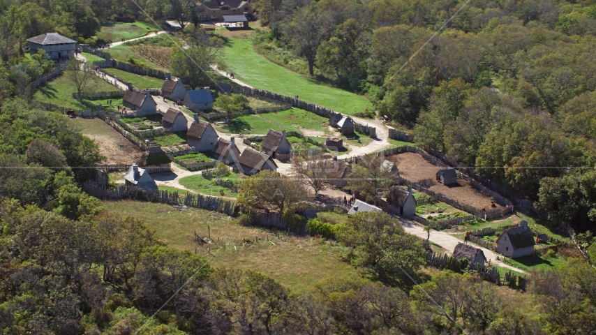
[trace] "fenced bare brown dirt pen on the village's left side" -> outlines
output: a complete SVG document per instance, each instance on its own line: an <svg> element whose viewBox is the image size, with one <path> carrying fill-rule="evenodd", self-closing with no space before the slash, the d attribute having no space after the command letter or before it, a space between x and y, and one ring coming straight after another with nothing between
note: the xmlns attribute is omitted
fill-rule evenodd
<svg viewBox="0 0 596 335"><path fill-rule="evenodd" d="M81 129L81 133L99 145L99 151L107 159L105 164L132 164L141 158L143 151L135 144L98 118L72 120Z"/></svg>

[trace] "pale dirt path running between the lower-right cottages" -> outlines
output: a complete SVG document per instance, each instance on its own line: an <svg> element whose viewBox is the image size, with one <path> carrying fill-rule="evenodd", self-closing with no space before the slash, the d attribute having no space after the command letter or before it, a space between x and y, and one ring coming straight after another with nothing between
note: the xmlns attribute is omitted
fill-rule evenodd
<svg viewBox="0 0 596 335"><path fill-rule="evenodd" d="M405 230L405 232L408 232L409 234L416 235L417 237L422 237L423 239L426 239L427 233L424 231L424 228L422 228L422 225L419 225L418 223L416 223L414 221L406 220L404 218L398 218L398 219L401 222L401 225L403 225L403 229ZM452 235L448 234L447 232L431 230L431 242L442 246L442 248L447 249L447 251L449 251L449 253L452 253L451 251L454 250L455 246L457 246L457 244L461 242L461 239L453 237ZM482 249L482 252L484 252L484 256L486 257L486 259L491 260L491 265L494 265L496 267L505 267L507 269L512 269L514 271L521 272L522 274L528 274L528 272L523 271L522 269L512 267L511 265L505 264L504 262L497 260L497 256L502 257L502 255L498 255L497 253L494 253L493 251L491 251L489 249L482 248L475 244L472 244L472 245L475 246L476 248Z"/></svg>

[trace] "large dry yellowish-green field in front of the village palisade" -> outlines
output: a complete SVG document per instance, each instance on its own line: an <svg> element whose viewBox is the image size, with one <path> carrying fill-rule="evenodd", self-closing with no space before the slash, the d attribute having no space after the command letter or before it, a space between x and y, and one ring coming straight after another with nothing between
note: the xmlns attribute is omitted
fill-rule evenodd
<svg viewBox="0 0 596 335"><path fill-rule="evenodd" d="M313 284L325 278L357 276L353 267L338 259L343 248L326 241L290 237L285 233L278 239L277 231L243 227L234 218L201 209L176 211L166 204L131 200L103 204L108 211L140 218L168 245L188 251L198 248L198 253L204 255L207 248L195 244L193 230L207 236L209 226L211 239L216 241L208 257L212 266L252 269L271 276L294 292L308 292ZM243 239L254 241L255 237L259 239L256 244L242 246Z"/></svg>

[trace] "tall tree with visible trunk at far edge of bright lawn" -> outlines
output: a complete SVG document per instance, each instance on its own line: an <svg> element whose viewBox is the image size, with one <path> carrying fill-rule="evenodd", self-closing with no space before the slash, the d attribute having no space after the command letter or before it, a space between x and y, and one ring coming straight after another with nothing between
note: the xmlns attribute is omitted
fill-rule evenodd
<svg viewBox="0 0 596 335"><path fill-rule="evenodd" d="M283 33L288 43L308 61L308 73L315 75L314 65L319 45L329 37L333 20L330 13L318 10L315 4L301 8L288 20Z"/></svg>

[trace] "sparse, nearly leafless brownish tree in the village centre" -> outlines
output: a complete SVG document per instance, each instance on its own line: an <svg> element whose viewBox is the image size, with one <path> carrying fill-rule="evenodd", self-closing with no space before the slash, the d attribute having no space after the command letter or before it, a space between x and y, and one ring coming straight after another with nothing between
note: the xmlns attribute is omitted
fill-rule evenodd
<svg viewBox="0 0 596 335"><path fill-rule="evenodd" d="M338 168L336 162L320 154L310 156L308 159L294 156L292 158L290 171L306 186L315 190L315 198L319 192L329 187L327 174Z"/></svg>

